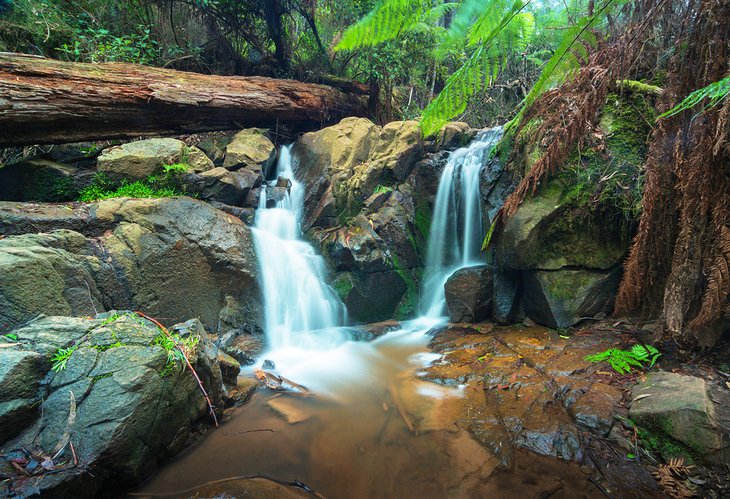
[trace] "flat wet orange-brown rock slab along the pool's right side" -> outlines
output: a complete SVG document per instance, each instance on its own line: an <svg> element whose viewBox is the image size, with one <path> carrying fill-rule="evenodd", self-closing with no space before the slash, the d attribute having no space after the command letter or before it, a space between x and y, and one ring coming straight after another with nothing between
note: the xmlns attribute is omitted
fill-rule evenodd
<svg viewBox="0 0 730 499"><path fill-rule="evenodd" d="M484 327L436 333L431 347L443 356L422 375L464 385L457 421L505 466L518 448L577 460L581 428L608 433L623 392L596 381L598 368L584 357L613 346L615 337L566 340L542 327L487 327L485 334Z"/></svg>

